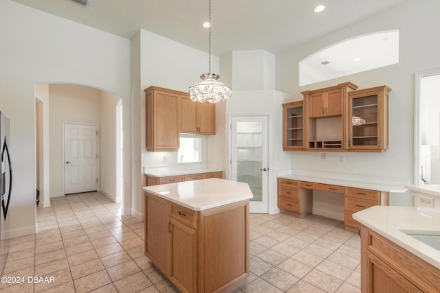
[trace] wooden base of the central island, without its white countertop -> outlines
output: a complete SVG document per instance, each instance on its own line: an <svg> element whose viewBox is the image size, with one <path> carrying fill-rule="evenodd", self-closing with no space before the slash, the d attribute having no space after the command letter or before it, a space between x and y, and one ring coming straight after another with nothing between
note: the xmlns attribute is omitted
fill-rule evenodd
<svg viewBox="0 0 440 293"><path fill-rule="evenodd" d="M189 214L145 195L145 255L181 292L230 292L249 276L249 200Z"/></svg>

